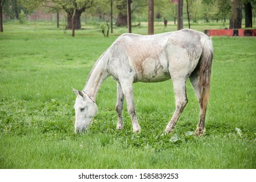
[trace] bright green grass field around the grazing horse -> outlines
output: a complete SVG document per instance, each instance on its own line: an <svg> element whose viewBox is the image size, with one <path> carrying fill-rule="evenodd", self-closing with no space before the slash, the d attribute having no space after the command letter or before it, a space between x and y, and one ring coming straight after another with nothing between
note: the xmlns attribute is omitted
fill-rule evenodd
<svg viewBox="0 0 256 182"><path fill-rule="evenodd" d="M74 38L50 23L7 23L4 31L0 34L0 168L256 168L255 38L212 38L205 136L193 136L199 107L189 81L189 103L174 133L164 135L174 111L171 81L136 83L135 107L142 132L132 132L126 107L124 129L117 131L112 78L99 90L99 111L89 133L75 135L72 87L84 87L93 63L126 29L115 29L106 38L96 25L76 31ZM163 31L167 29L155 26L155 33ZM133 32L146 34L147 29L133 27Z"/></svg>

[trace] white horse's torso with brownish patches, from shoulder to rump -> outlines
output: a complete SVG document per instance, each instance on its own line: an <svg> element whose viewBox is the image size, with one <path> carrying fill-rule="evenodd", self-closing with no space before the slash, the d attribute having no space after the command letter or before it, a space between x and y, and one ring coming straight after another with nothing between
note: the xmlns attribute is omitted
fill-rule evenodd
<svg viewBox="0 0 256 182"><path fill-rule="evenodd" d="M186 29L150 36L123 34L111 48L112 64L118 68L112 72L132 72L134 82L165 81L171 77L172 64L182 68L197 59L192 64L192 67L196 66L202 52L199 43L200 33ZM184 57L184 53L187 56ZM189 60L183 60L183 57Z"/></svg>

